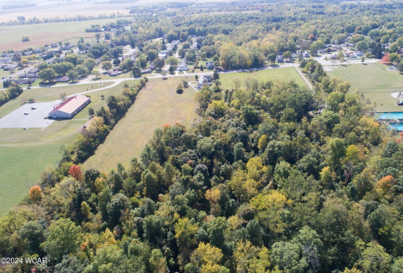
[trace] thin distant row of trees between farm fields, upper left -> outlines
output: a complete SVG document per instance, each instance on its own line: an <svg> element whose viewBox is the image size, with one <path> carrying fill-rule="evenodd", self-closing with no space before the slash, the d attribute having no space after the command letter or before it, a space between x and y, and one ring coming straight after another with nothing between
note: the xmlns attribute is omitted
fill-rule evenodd
<svg viewBox="0 0 403 273"><path fill-rule="evenodd" d="M74 17L61 18L56 16L54 18L44 18L39 19L37 17L33 17L30 19L23 18L23 20L9 20L7 22L1 22L0 26L6 25L24 25L24 24L41 24L41 23L58 23L58 22L70 22L70 21L86 21L86 20L97 20L97 19L111 19L111 18L122 18L127 17L125 14L121 13L111 13L111 14L100 14L98 16L84 16L84 15L76 15ZM21 17L22 18L22 17Z"/></svg>

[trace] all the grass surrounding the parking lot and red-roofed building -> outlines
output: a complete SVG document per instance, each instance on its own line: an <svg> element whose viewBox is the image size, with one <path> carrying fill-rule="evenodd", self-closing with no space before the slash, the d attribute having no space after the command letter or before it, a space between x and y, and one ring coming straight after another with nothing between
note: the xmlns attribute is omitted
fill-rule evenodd
<svg viewBox="0 0 403 273"><path fill-rule="evenodd" d="M105 83L102 87L112 83ZM37 101L52 101L60 92L67 95L83 92L87 85L50 87L25 90L21 96ZM93 85L95 87L95 84ZM17 205L28 195L29 187L39 182L47 165L55 165L61 158L61 145L69 145L80 134L79 130L88 120L88 108L95 111L106 105L106 98L119 94L123 84L87 94L92 102L71 120L55 121L47 128L2 128L0 129L0 216L11 206ZM91 85L88 89L90 90ZM99 87L99 86L97 86ZM84 89L84 90L83 90ZM32 94L30 94L32 92ZM105 99L101 98L105 96ZM0 107L0 116L21 106L22 97ZM56 96L56 97L55 97Z"/></svg>

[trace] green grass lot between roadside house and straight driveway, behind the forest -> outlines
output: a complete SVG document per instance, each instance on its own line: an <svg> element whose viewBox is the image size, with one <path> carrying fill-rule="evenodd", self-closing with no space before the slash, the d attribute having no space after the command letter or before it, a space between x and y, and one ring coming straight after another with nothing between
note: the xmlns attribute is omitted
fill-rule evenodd
<svg viewBox="0 0 403 273"><path fill-rule="evenodd" d="M294 80L299 86L308 87L294 67L286 67L279 69L266 69L255 72L242 72L242 73L225 73L220 74L220 81L222 89L232 89L233 79L239 78L242 81L245 78L255 78L259 82L267 80L278 80L280 82L290 82ZM243 85L243 82L242 82Z"/></svg>

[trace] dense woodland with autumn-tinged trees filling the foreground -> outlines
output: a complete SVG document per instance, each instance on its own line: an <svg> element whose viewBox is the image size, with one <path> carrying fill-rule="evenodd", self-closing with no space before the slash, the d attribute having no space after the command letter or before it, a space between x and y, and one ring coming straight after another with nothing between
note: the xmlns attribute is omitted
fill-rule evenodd
<svg viewBox="0 0 403 273"><path fill-rule="evenodd" d="M157 129L130 166L47 168L0 219L1 256L58 273L402 272L403 144L348 86L331 78L315 117L293 82L204 87L203 120Z"/></svg>

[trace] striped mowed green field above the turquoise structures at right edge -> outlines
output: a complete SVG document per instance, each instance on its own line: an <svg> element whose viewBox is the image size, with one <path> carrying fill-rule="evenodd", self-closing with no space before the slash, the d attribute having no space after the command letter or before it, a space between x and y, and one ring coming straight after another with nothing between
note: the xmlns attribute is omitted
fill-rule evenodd
<svg viewBox="0 0 403 273"><path fill-rule="evenodd" d="M403 107L395 105L397 99L391 94L403 91L403 75L388 67L381 63L352 64L332 68L333 71L327 73L330 77L339 76L350 81L350 90L360 90L371 105L376 105L377 112L402 112Z"/></svg>

